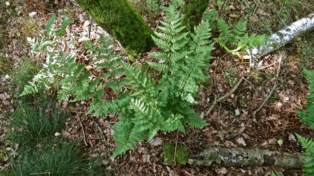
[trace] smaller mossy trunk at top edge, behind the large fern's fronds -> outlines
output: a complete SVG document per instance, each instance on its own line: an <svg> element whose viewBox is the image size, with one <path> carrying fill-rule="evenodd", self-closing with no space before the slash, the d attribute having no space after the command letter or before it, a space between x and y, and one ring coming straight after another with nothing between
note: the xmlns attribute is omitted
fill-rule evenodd
<svg viewBox="0 0 314 176"><path fill-rule="evenodd" d="M208 3L209 0L184 0L181 13L183 14L182 25L186 26L186 30L193 31L194 26L201 22Z"/></svg>

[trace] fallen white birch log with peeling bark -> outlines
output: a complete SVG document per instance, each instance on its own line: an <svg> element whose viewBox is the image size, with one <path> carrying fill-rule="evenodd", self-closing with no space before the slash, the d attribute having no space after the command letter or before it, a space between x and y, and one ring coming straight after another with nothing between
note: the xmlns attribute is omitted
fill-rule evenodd
<svg viewBox="0 0 314 176"><path fill-rule="evenodd" d="M287 44L289 41L297 37L298 35L314 28L314 13L308 15L305 18L299 19L293 22L286 28L272 34L270 36L274 41L267 42L267 44L261 47L254 47L253 49L247 49L246 54L242 55L244 59L250 59L255 61L263 55L279 48L280 46Z"/></svg>

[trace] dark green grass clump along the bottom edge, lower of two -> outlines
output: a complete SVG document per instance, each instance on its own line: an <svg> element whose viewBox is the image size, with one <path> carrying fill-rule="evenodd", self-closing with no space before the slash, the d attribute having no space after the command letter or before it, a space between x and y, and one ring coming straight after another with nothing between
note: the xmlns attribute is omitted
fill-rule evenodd
<svg viewBox="0 0 314 176"><path fill-rule="evenodd" d="M12 176L103 176L98 160L89 164L83 151L75 143L57 140L40 147L20 151L17 161L12 161Z"/></svg>

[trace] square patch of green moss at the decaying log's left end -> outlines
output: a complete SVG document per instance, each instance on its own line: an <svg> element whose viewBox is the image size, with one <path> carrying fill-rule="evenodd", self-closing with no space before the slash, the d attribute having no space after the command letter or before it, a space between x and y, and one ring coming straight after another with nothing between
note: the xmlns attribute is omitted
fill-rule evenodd
<svg viewBox="0 0 314 176"><path fill-rule="evenodd" d="M174 164L175 157L175 144L166 144L163 148L162 156L164 157L164 163L168 165ZM188 161L188 151L183 145L177 145L176 150L176 163L185 164Z"/></svg>

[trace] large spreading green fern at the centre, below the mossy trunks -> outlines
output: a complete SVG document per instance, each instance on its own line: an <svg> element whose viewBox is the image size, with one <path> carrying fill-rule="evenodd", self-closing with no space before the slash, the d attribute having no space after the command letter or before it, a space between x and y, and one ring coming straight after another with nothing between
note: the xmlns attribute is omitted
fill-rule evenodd
<svg viewBox="0 0 314 176"><path fill-rule="evenodd" d="M183 32L180 14L170 5L161 24L157 37L152 37L163 52L149 53L159 62L148 63L163 73L158 82L146 71L141 72L140 68L125 63L119 56L121 53L113 53L115 46L109 47L112 41L103 35L100 35L98 44L84 43L87 52L91 53L90 59L96 58L93 62L97 69L105 71L96 79L90 79L91 71L84 71L84 64L75 62L72 54L63 51L57 57L53 57L53 52L49 54L45 68L52 74L52 81L61 87L58 91L60 101L68 96L74 96L72 102L92 98L87 114L93 112L94 116L103 117L109 112L118 114L119 121L112 126L113 139L118 147L112 156L133 150L136 141L147 138L149 142L159 130L185 132L186 124L193 129L208 125L189 106L197 104L198 84L208 79L204 68L211 66L210 52L214 49L209 40L209 22L195 27L195 34ZM111 88L118 96L104 102L104 87Z"/></svg>

